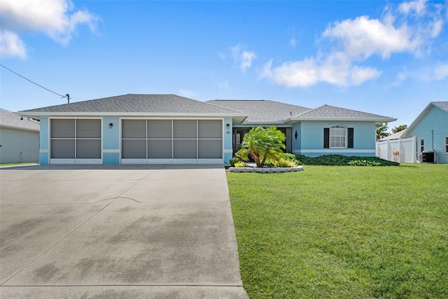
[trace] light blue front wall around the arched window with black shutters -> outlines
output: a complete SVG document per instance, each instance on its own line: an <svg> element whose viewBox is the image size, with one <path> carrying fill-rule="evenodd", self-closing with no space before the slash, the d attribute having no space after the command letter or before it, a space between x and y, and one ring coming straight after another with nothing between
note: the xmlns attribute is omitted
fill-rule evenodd
<svg viewBox="0 0 448 299"><path fill-rule="evenodd" d="M323 148L323 129L333 125L353 127L353 148ZM308 155L329 155L332 153L342 155L375 155L375 124L374 122L326 122L326 121L302 121L300 125L293 127L299 132L297 141L293 139L293 153Z"/></svg>

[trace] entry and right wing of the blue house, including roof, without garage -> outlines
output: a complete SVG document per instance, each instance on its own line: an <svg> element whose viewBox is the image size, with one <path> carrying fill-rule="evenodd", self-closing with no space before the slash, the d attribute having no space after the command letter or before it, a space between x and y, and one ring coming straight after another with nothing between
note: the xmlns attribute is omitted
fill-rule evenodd
<svg viewBox="0 0 448 299"><path fill-rule="evenodd" d="M396 120L328 105L309 109L266 100L213 100L207 103L248 114L243 123L233 126L234 153L251 127L275 125L286 135L286 151L289 153L374 156L375 125Z"/></svg>

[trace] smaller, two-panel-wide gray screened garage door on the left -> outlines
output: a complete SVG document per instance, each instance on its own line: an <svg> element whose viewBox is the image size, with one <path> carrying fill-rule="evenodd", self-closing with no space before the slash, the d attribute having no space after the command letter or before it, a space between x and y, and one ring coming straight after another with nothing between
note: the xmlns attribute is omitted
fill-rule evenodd
<svg viewBox="0 0 448 299"><path fill-rule="evenodd" d="M100 119L51 119L50 162L101 162Z"/></svg>

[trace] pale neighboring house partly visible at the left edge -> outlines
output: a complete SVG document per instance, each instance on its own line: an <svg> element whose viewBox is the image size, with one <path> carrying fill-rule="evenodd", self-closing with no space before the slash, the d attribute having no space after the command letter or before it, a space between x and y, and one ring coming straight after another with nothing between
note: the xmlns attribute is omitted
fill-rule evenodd
<svg viewBox="0 0 448 299"><path fill-rule="evenodd" d="M0 109L0 163L38 162L39 123Z"/></svg>

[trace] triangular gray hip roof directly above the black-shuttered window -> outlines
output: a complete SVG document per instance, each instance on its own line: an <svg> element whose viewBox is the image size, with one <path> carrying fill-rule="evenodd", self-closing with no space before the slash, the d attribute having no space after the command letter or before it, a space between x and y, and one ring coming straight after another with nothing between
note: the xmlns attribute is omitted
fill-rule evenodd
<svg viewBox="0 0 448 299"><path fill-rule="evenodd" d="M307 111L305 113L300 114L297 116L297 118L304 119L304 118L330 118L330 119L378 119L378 118L388 118L387 116L379 116L377 114L362 112L362 111L356 111L351 109L344 109L339 108L335 106L328 106L323 105L316 109L312 109L310 111Z"/></svg>

